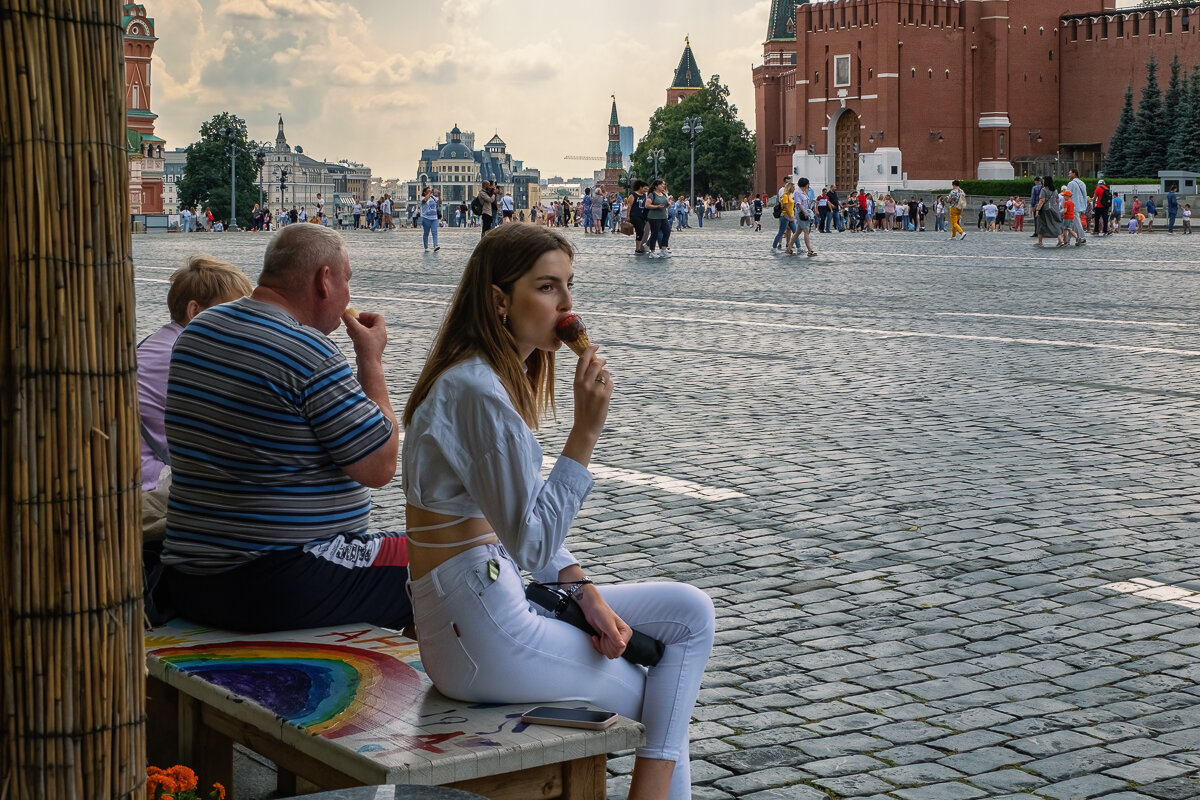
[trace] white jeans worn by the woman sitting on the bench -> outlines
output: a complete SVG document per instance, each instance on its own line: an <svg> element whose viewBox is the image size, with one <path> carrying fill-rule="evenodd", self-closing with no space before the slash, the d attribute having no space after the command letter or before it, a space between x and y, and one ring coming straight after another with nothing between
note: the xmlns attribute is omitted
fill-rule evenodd
<svg viewBox="0 0 1200 800"><path fill-rule="evenodd" d="M499 577L488 576L488 560ZM587 633L524 596L500 545L460 553L409 582L421 663L443 694L473 703L580 700L641 721L637 754L676 762L671 800L691 796L688 724L713 649L713 601L683 583L599 587L631 627L666 645L649 669L595 651Z"/></svg>

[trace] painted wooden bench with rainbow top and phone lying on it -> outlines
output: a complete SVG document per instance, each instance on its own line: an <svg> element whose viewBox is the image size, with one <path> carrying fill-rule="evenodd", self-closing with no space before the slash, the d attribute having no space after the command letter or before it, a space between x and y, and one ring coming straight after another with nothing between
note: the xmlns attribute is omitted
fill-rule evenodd
<svg viewBox="0 0 1200 800"><path fill-rule="evenodd" d="M233 745L271 759L283 796L413 783L491 800L604 800L606 754L644 729L527 726L527 706L451 700L416 643L367 625L239 634L176 620L146 633L150 763L233 794ZM562 703L581 706L578 703Z"/></svg>

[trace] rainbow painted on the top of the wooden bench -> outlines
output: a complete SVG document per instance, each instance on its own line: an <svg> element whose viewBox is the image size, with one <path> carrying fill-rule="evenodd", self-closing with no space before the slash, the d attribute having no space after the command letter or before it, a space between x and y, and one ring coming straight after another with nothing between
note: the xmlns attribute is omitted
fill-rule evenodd
<svg viewBox="0 0 1200 800"><path fill-rule="evenodd" d="M384 652L310 642L221 642L152 650L180 672L246 697L328 739L395 723L421 675ZM378 691L388 686L388 691Z"/></svg>

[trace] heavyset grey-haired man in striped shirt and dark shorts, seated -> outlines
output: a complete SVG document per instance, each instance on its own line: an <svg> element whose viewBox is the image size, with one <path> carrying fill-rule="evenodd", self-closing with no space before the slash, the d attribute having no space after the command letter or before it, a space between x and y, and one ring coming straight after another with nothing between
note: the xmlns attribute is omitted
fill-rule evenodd
<svg viewBox="0 0 1200 800"><path fill-rule="evenodd" d="M250 297L198 314L172 351L174 470L162 561L179 613L244 631L401 628L407 542L368 533L396 473L378 314L347 312L341 235L288 225ZM346 324L358 377L328 333Z"/></svg>

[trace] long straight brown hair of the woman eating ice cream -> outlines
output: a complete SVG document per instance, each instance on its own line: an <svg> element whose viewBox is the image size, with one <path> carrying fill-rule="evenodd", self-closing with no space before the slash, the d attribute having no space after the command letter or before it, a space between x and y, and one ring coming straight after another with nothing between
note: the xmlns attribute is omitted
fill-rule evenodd
<svg viewBox="0 0 1200 800"><path fill-rule="evenodd" d="M404 427L412 425L442 373L473 356L496 371L512 407L530 428L536 429L538 420L554 409L554 354L534 350L521 362L517 342L496 312L492 287L511 294L512 284L539 258L556 249L575 258L575 248L565 236L541 225L504 224L480 240L404 407Z"/></svg>

